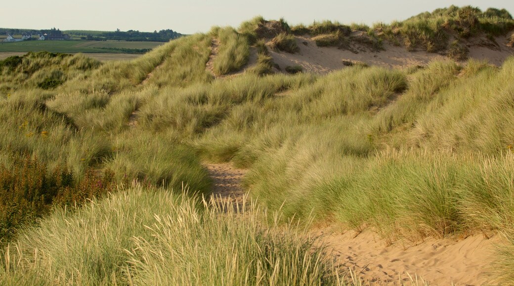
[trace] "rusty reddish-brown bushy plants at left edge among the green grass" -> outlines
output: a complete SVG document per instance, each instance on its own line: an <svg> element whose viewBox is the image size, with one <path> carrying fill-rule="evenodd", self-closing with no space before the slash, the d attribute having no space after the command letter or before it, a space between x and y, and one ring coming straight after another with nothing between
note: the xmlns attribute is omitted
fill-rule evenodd
<svg viewBox="0 0 514 286"><path fill-rule="evenodd" d="M0 242L16 230L47 214L53 206L81 205L86 199L115 190L114 174L86 171L78 181L66 167L48 170L29 156L14 157L9 168L0 166Z"/></svg>

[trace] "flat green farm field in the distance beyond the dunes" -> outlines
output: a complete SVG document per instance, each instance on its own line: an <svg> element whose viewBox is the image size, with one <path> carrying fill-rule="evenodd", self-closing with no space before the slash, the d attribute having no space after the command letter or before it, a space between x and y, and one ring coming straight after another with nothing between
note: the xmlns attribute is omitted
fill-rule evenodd
<svg viewBox="0 0 514 286"><path fill-rule="evenodd" d="M161 42L85 41L85 40L31 40L15 43L0 42L0 52L54 53L122 53L100 48L152 49Z"/></svg>

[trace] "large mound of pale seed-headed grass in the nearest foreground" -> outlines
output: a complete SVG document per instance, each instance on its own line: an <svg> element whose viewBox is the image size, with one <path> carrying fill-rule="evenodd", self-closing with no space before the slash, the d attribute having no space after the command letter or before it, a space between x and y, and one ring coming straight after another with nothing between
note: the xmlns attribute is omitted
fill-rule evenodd
<svg viewBox="0 0 514 286"><path fill-rule="evenodd" d="M26 229L3 253L0 282L337 283L315 240L259 213L254 205L242 216L230 202L203 207L186 194L126 188Z"/></svg>

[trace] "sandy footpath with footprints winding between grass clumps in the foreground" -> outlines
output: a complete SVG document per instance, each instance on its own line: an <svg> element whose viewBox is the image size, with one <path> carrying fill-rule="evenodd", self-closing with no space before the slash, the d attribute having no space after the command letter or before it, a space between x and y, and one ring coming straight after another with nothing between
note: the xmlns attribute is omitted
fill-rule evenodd
<svg viewBox="0 0 514 286"><path fill-rule="evenodd" d="M245 194L241 180L246 170L232 164L206 164L213 180L213 194L234 203L241 203ZM338 232L339 230L339 232ZM321 237L332 257L342 268L351 268L367 284L398 284L401 276L423 278L433 285L482 285L494 277L490 262L499 237L485 239L482 235L461 240L427 238L416 244L396 241L386 247L372 231L358 235L353 231L340 233L335 226L313 230ZM420 280L421 281L421 280Z"/></svg>

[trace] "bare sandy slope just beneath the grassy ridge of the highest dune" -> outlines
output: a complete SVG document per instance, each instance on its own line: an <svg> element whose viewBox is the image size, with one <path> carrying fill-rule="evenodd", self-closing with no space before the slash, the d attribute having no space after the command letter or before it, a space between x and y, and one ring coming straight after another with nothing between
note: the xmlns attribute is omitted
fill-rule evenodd
<svg viewBox="0 0 514 286"><path fill-rule="evenodd" d="M425 51L409 52L405 47L397 47L388 43L384 44L385 51L372 52L361 47L358 49L358 53L354 53L335 47L320 48L308 36L297 36L296 40L300 47L298 53L270 51L274 62L280 66L281 70L287 66L300 65L304 71L327 73L344 68L343 60L389 68L425 66L434 59L448 60L445 55ZM470 50L469 57L486 59L489 63L500 66L508 56L514 54L514 49L506 46L507 39L505 37L497 37L495 40L498 45L492 45L483 38L470 40L466 43Z"/></svg>

